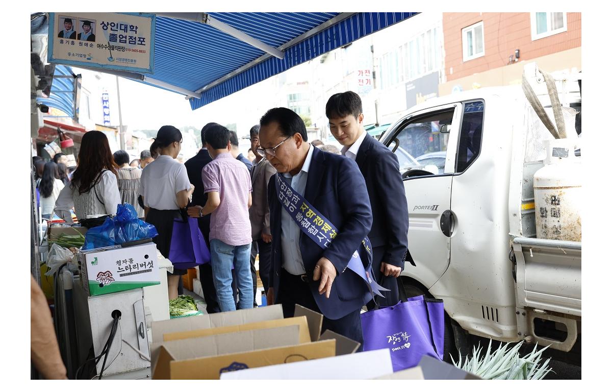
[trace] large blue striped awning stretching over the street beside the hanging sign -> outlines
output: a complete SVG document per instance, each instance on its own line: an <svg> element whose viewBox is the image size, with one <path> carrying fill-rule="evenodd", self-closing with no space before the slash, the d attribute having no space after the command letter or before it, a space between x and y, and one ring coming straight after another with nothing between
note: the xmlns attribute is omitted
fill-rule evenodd
<svg viewBox="0 0 612 392"><path fill-rule="evenodd" d="M200 95L193 110L347 45L416 12L216 12L212 18L285 51L278 59L212 26L156 18L154 74L147 78ZM156 83L147 83L156 85ZM157 83L160 86L160 83ZM168 86L163 88L173 90ZM177 89L174 89L177 91Z"/></svg>

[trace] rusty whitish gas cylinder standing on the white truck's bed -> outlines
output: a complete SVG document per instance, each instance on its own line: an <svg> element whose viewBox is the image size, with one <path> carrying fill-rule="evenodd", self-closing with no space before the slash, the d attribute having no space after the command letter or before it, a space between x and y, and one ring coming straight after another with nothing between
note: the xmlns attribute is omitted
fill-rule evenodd
<svg viewBox="0 0 612 392"><path fill-rule="evenodd" d="M581 159L575 154L580 139L545 140L544 167L534 174L537 238L581 241Z"/></svg>

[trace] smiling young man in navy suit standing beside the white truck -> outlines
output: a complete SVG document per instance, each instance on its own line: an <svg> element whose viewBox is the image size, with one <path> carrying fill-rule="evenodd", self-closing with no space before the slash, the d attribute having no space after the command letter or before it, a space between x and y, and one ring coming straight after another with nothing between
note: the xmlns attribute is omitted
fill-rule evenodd
<svg viewBox="0 0 612 392"><path fill-rule="evenodd" d="M364 129L361 99L353 91L334 94L325 108L332 135L343 145L342 155L357 162L372 206L368 238L373 248L376 281L389 292L376 296L380 306L400 301L398 277L408 249L408 203L397 156ZM368 309L375 304L368 303Z"/></svg>

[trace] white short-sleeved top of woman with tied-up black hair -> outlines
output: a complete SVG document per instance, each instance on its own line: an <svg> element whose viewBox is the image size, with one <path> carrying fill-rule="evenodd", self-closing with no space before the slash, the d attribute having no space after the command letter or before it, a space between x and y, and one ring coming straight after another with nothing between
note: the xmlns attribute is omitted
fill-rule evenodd
<svg viewBox="0 0 612 392"><path fill-rule="evenodd" d="M190 188L185 165L169 155L160 155L144 167L138 192L143 196L143 203L147 207L180 209L176 194Z"/></svg>

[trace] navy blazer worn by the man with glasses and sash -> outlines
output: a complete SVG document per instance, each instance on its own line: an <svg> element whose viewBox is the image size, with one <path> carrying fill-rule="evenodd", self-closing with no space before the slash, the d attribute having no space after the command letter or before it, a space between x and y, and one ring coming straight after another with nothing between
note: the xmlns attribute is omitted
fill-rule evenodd
<svg viewBox="0 0 612 392"><path fill-rule="evenodd" d="M283 265L281 250L281 211L276 181L279 174L268 183L270 228L272 232L271 287L274 287L275 303L278 302L280 270ZM357 164L346 157L326 153L315 148L308 169L304 198L330 220L338 235L327 249L322 249L312 239L300 233L300 251L306 274L312 279L316 263L327 257L337 269L329 298L319 294L319 283L310 282L310 290L323 315L332 320L344 317L371 300L365 282L351 269L346 268L356 249L362 249L361 241L370 232L372 213L364 177ZM362 254L362 260L365 254ZM364 260L367 263L367 259ZM280 298L282 301L282 298Z"/></svg>

